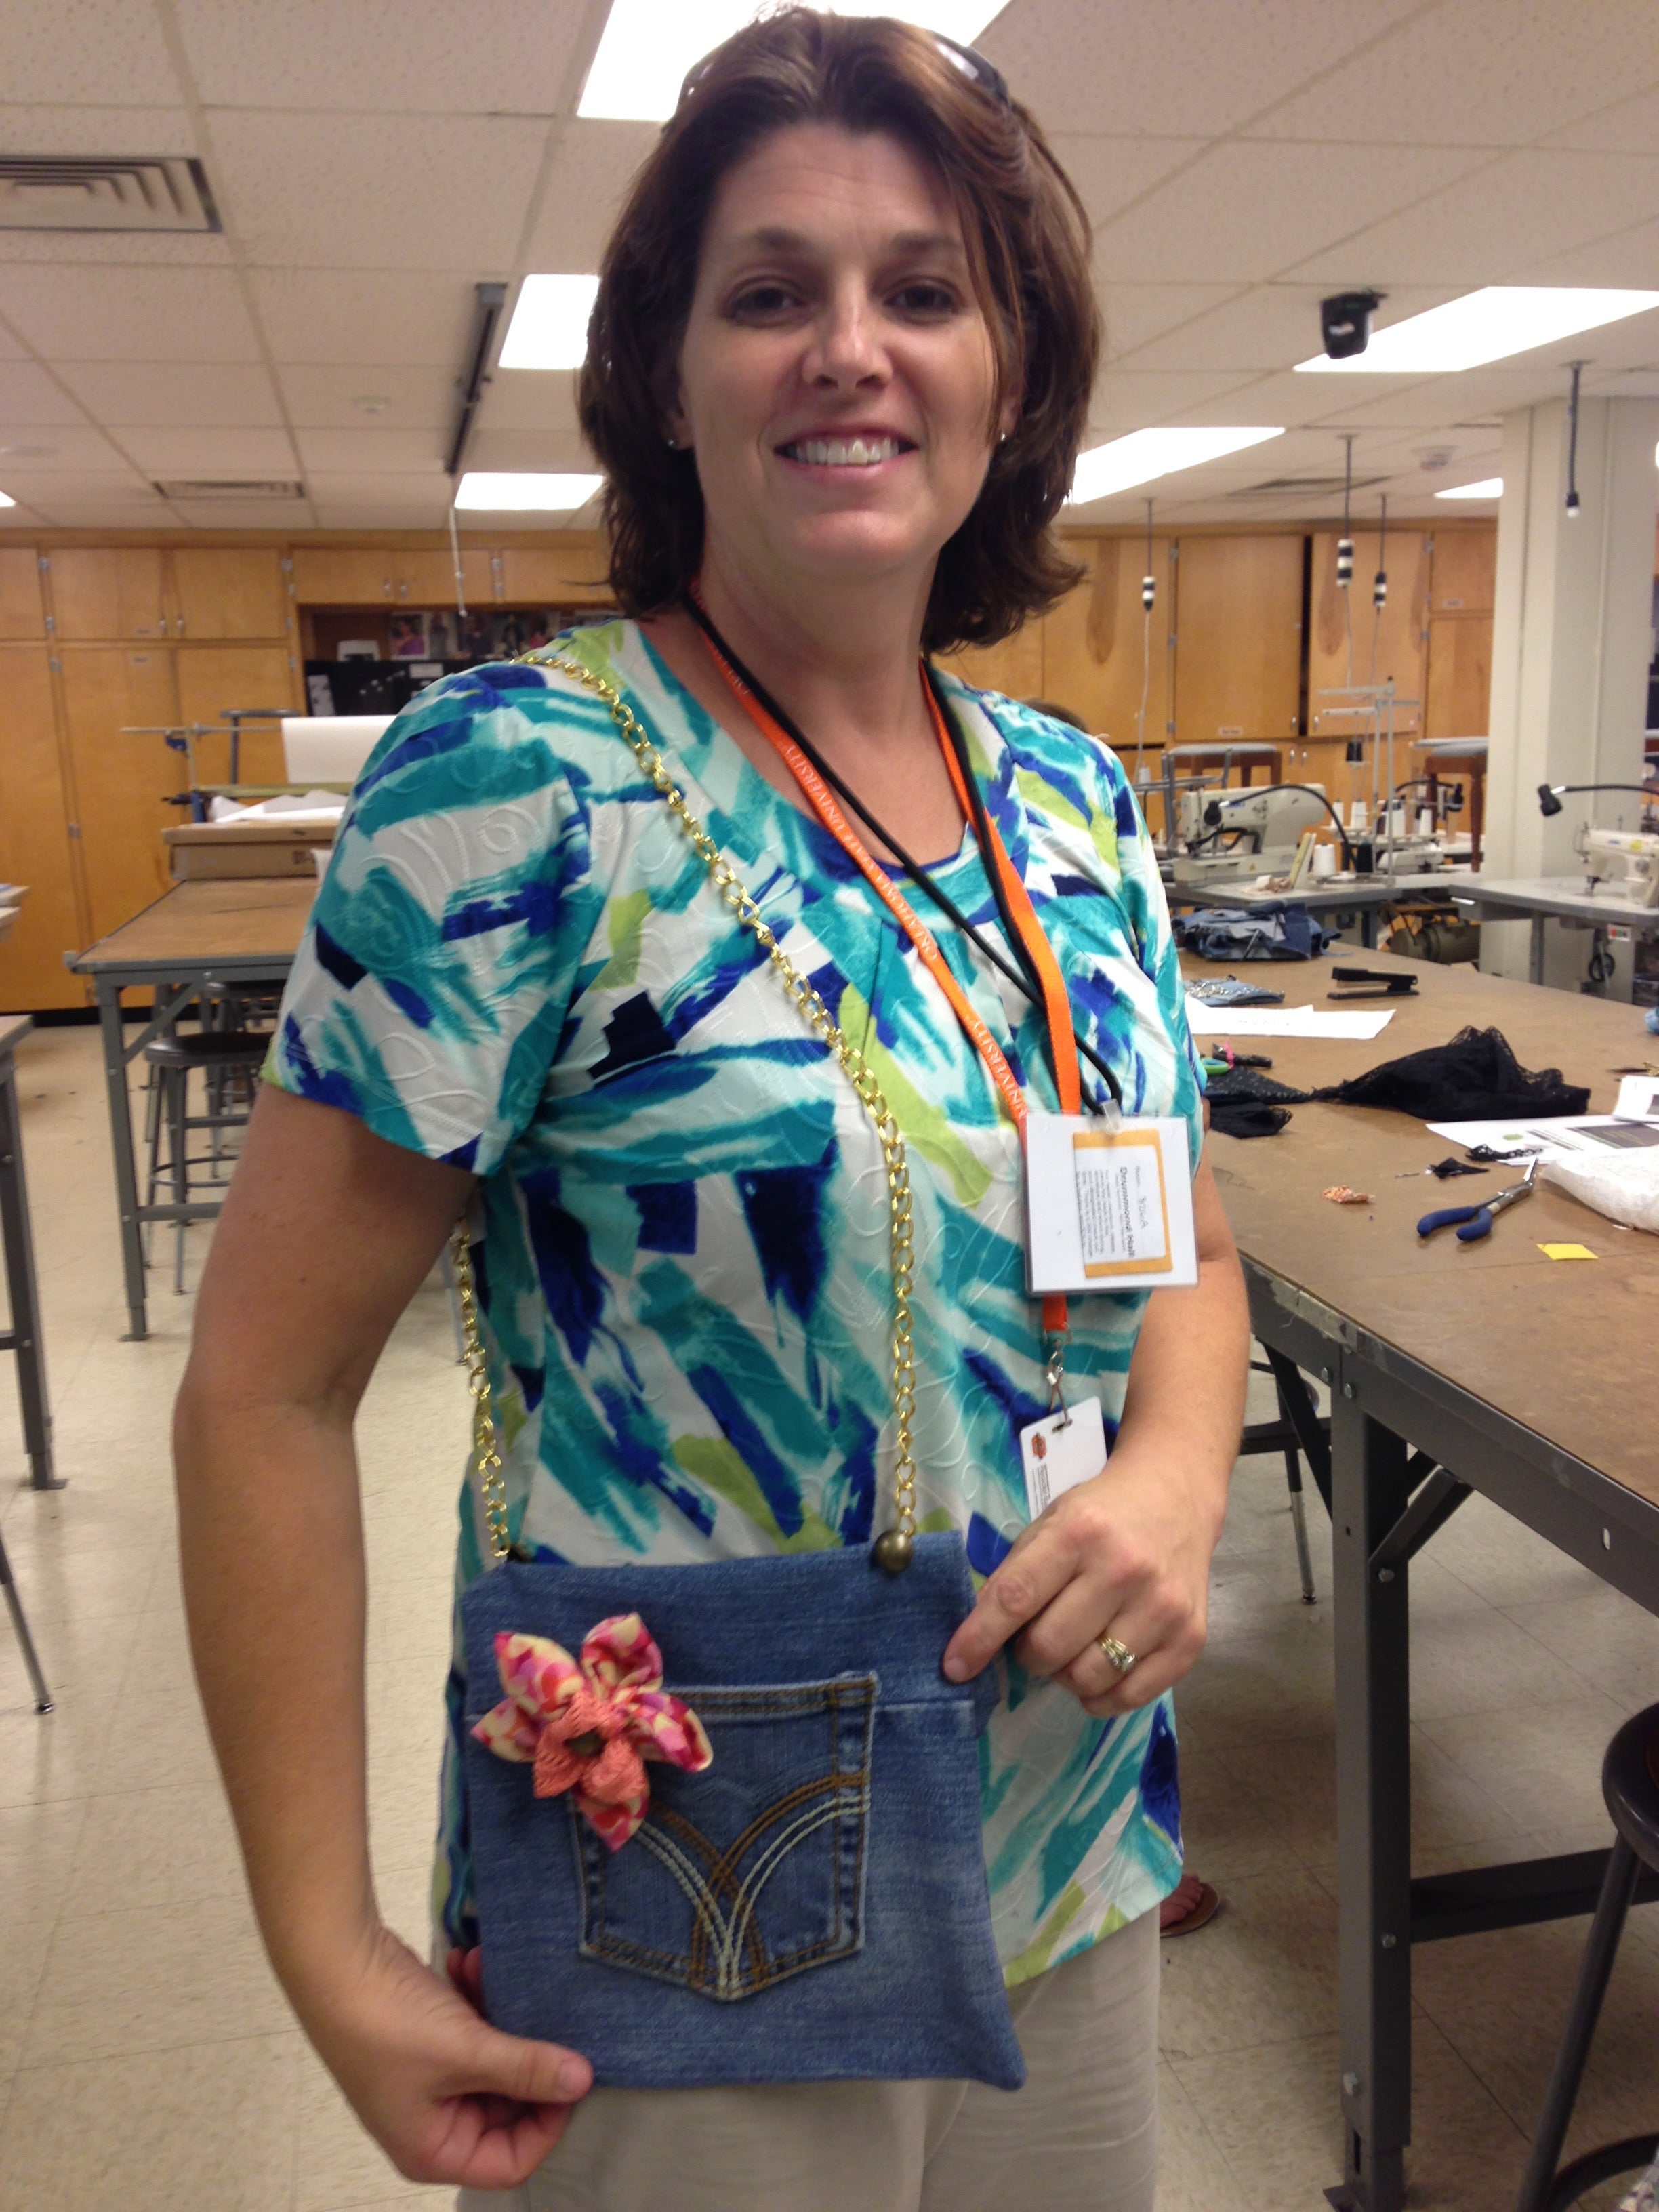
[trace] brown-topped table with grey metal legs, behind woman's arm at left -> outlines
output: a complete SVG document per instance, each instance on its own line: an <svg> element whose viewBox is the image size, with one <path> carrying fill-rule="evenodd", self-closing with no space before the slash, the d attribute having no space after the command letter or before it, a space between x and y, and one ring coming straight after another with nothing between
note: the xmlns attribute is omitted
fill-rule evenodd
<svg viewBox="0 0 1659 2212"><path fill-rule="evenodd" d="M122 1272L126 1276L128 1338L148 1334L144 1312L144 1223L210 1221L217 1203L142 1206L133 1157L133 1102L126 1068L150 1037L212 984L281 984L294 964L316 878L241 876L177 883L155 905L122 922L88 951L69 960L97 989L97 1026L104 1040L115 1199L122 1217ZM122 991L150 984L155 1011L128 1044Z"/></svg>

